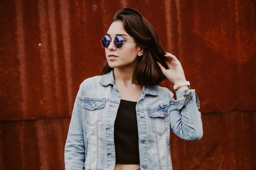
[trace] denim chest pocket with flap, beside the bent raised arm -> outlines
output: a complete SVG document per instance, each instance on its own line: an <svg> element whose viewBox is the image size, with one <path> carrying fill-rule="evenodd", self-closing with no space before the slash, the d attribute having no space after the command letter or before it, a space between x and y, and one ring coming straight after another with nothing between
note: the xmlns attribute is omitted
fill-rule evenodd
<svg viewBox="0 0 256 170"><path fill-rule="evenodd" d="M151 120L152 131L159 136L163 136L164 132L170 129L168 106L149 109L147 113Z"/></svg>

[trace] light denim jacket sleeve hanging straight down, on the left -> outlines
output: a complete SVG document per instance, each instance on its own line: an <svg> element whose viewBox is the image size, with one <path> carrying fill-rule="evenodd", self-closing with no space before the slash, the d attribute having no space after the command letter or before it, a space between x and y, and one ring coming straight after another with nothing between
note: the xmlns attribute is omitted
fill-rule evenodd
<svg viewBox="0 0 256 170"><path fill-rule="evenodd" d="M65 145L65 169L84 169L85 147L82 124L83 83L76 96Z"/></svg>

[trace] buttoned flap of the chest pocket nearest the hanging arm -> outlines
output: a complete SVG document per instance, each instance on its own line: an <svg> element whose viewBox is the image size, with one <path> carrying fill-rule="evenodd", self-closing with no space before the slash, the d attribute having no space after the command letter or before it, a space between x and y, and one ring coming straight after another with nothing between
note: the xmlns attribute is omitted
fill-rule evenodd
<svg viewBox="0 0 256 170"><path fill-rule="evenodd" d="M105 107L105 99L84 99L83 107L88 110L99 110Z"/></svg>

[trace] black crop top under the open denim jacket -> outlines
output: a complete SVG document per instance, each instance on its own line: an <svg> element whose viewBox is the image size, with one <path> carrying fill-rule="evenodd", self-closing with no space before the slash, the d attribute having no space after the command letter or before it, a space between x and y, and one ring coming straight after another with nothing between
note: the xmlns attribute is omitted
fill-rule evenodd
<svg viewBox="0 0 256 170"><path fill-rule="evenodd" d="M116 163L140 164L136 102L121 100L114 130Z"/></svg>

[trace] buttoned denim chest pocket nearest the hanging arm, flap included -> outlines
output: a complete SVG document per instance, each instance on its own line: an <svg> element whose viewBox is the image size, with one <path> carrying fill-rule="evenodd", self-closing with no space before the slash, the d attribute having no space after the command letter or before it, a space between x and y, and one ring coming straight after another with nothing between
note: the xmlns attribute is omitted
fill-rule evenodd
<svg viewBox="0 0 256 170"><path fill-rule="evenodd" d="M83 112L86 117L86 123L95 126L101 121L102 110L104 109L106 100L104 99L88 99L84 98Z"/></svg>

